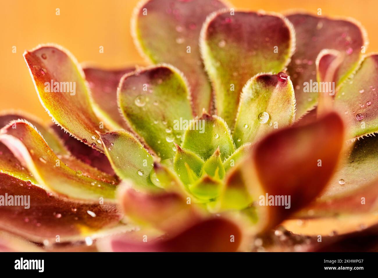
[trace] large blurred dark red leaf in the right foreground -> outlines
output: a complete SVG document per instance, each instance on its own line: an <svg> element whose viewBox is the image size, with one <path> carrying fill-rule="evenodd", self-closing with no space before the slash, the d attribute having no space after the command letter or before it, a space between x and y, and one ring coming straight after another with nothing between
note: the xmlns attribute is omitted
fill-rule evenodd
<svg viewBox="0 0 378 278"><path fill-rule="evenodd" d="M279 224L318 196L332 177L343 142L344 125L340 116L332 112L314 123L268 135L256 145L253 163L246 160L242 170L247 176L256 169L260 193L253 179L248 179L249 188L253 196L263 197L259 197L259 205L265 208L268 227ZM288 204L265 207L266 195L273 196L275 202L276 196L286 197Z"/></svg>

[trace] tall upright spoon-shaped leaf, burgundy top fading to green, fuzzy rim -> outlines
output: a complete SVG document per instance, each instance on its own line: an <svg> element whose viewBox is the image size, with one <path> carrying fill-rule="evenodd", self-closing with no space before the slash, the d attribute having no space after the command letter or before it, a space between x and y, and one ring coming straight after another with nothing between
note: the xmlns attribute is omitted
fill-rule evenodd
<svg viewBox="0 0 378 278"><path fill-rule="evenodd" d="M244 84L257 73L282 71L295 47L290 23L277 14L229 11L212 14L200 38L214 85L217 114L234 127Z"/></svg>

